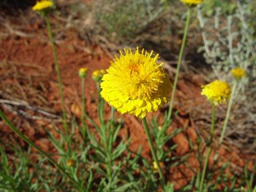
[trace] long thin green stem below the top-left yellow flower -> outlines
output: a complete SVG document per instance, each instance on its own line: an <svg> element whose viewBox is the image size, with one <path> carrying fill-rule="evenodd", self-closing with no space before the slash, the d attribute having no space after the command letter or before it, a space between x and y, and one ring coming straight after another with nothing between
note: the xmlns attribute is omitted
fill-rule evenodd
<svg viewBox="0 0 256 192"><path fill-rule="evenodd" d="M55 69L57 71L57 76L58 76L58 80L59 80L59 91L61 92L61 105L62 105L63 121L64 121L63 124L64 124L64 128L65 128L65 133L67 135L68 134L67 116L66 116L66 111L65 111L63 88L62 88L62 83L61 83L61 74L59 73L59 62L58 62L58 59L57 59L57 54L56 54L56 50L55 50L55 46L54 46L54 42L53 42L53 34L51 33L51 25L50 25L49 18L48 18L47 15L45 15L45 20L46 20L46 23L47 23L49 36L50 36L50 39L51 39L51 47L53 49L53 57L54 57L54 60L55 60Z"/></svg>

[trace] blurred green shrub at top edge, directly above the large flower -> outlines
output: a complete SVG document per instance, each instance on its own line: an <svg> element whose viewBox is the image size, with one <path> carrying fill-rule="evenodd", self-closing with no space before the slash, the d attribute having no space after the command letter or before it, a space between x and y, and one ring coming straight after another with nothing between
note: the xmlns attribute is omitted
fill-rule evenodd
<svg viewBox="0 0 256 192"><path fill-rule="evenodd" d="M98 24L99 33L119 43L142 33L149 23L159 18L164 3L158 0L98 0L95 5L101 6L97 7L93 19Z"/></svg>

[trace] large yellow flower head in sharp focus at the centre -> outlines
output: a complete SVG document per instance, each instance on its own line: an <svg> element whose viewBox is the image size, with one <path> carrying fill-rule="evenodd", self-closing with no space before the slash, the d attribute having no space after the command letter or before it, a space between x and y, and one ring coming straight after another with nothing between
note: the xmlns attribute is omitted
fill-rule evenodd
<svg viewBox="0 0 256 192"><path fill-rule="evenodd" d="M101 96L119 113L143 118L169 101L171 81L161 67L163 63L157 63L159 55L152 57L153 51L142 49L139 53L137 48L132 53L131 49L125 49L125 55L122 51L120 54L103 75Z"/></svg>

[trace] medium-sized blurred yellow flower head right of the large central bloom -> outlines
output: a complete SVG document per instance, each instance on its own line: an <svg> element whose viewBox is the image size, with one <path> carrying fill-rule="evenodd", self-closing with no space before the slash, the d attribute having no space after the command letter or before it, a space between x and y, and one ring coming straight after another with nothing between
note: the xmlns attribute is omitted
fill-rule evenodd
<svg viewBox="0 0 256 192"><path fill-rule="evenodd" d="M221 102L225 103L230 93L230 86L225 81L215 80L202 86L201 95L205 95L213 105L218 105Z"/></svg>

